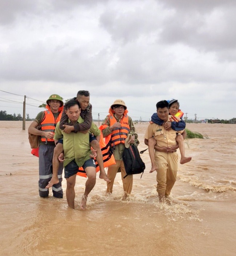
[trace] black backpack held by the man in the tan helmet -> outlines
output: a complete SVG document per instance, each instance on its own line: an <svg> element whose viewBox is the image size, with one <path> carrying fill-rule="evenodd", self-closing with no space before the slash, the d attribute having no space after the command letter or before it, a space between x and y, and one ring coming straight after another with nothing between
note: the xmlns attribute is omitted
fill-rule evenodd
<svg viewBox="0 0 236 256"><path fill-rule="evenodd" d="M137 174L141 173L143 175L143 171L145 170L145 163L143 163L143 160L141 159L138 148L135 145L130 145L129 148L125 148L125 151L123 152L122 159L125 165L125 171L127 177L131 174ZM142 178L141 175L141 178ZM140 178L140 179L141 179Z"/></svg>

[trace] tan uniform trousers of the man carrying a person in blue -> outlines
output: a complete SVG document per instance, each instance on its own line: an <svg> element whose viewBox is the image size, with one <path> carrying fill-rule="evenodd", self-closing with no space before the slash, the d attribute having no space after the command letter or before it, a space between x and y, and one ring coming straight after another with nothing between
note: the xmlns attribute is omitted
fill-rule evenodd
<svg viewBox="0 0 236 256"><path fill-rule="evenodd" d="M165 194L165 196L169 196L176 181L178 171L178 153L155 151L155 162L158 165L156 173L156 191L158 194Z"/></svg>

